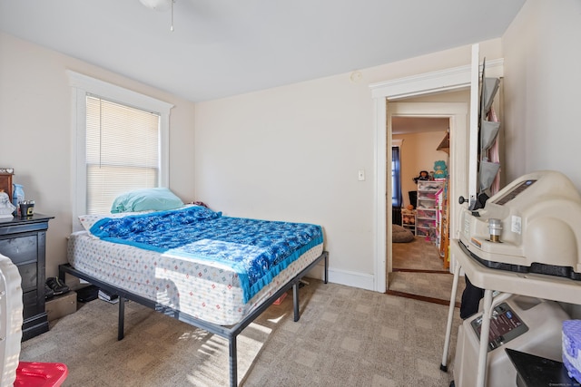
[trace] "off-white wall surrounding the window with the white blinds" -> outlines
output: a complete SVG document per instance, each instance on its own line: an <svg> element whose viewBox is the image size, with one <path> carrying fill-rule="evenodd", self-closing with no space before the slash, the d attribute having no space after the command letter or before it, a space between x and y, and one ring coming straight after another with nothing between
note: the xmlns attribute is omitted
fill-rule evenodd
<svg viewBox="0 0 581 387"><path fill-rule="evenodd" d="M97 66L0 33L0 166L15 169L15 183L34 199L34 210L54 216L47 233L46 276L66 262L71 233L72 97L65 70L84 73L175 105L170 131L170 187L193 198L194 105Z"/></svg>

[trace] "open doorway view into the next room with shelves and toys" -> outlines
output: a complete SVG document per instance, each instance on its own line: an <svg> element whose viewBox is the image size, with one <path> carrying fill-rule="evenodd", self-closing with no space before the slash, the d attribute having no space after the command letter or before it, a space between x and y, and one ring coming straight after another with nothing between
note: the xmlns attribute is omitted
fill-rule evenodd
<svg viewBox="0 0 581 387"><path fill-rule="evenodd" d="M433 171L436 161L449 165L450 118L442 117L438 103L467 102L468 98L467 91L409 99L405 115L399 114L401 102L393 102L388 107L392 114L391 140L388 139L391 146L387 147L387 157L397 147L391 154L391 170L392 175L400 177L399 182L392 179L394 195L386 203L386 208L392 208L391 227L394 230L392 270L386 276L389 295L448 305L453 276L447 268L448 245L441 238L448 235L448 222L444 222L446 229L439 232L437 218L443 212L438 211L436 201L436 192L442 189L443 194L443 189L448 190L448 187L446 181L433 180L438 177ZM414 102L421 103L418 105L421 108L414 109L411 105ZM432 102L436 103L434 108L429 107ZM419 179L419 172L424 170L429 180ZM443 195L438 196L442 198ZM403 215L401 219L399 213ZM414 235L411 240L409 233Z"/></svg>

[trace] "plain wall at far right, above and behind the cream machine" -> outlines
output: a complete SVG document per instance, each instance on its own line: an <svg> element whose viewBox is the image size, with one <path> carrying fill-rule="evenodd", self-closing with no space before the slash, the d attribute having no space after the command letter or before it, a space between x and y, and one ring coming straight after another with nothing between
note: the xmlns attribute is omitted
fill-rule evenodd
<svg viewBox="0 0 581 387"><path fill-rule="evenodd" d="M555 169L581 190L581 2L527 0L503 36L507 182Z"/></svg>

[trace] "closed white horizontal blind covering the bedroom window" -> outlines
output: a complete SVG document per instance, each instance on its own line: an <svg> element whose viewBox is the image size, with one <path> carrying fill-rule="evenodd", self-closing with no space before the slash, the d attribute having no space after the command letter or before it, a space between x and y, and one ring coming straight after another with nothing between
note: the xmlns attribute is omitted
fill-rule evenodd
<svg viewBox="0 0 581 387"><path fill-rule="evenodd" d="M158 186L160 115L86 97L86 210L109 213L113 199Z"/></svg>

